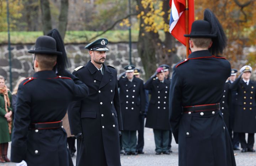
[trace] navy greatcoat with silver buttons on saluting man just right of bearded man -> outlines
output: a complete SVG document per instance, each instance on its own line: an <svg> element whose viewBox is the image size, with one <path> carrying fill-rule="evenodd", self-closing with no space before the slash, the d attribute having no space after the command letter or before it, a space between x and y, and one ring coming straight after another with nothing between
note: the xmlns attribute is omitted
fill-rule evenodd
<svg viewBox="0 0 256 166"><path fill-rule="evenodd" d="M130 82L127 77L118 81L123 130L140 130L140 114L145 112L145 91L143 80L134 77Z"/></svg>

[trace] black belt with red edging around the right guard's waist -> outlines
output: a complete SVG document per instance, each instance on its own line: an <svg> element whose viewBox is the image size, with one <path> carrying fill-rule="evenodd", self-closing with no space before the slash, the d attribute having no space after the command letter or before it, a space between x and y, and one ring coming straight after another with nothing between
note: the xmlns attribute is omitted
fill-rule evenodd
<svg viewBox="0 0 256 166"><path fill-rule="evenodd" d="M204 105L194 105L183 107L183 113L188 112L203 112L203 111L213 111L220 109L220 104L204 104Z"/></svg>

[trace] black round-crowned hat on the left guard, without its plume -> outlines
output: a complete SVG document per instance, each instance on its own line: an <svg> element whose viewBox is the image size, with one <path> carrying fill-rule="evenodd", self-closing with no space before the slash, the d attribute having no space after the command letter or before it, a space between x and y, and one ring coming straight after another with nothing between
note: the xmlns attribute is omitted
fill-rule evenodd
<svg viewBox="0 0 256 166"><path fill-rule="evenodd" d="M38 37L35 49L29 50L28 52L35 54L62 55L62 52L57 51L55 39L50 36Z"/></svg>

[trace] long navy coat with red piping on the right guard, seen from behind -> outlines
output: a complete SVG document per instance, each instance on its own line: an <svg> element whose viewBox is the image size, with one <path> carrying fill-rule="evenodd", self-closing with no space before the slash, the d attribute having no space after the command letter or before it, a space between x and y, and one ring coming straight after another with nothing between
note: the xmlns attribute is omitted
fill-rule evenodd
<svg viewBox="0 0 256 166"><path fill-rule="evenodd" d="M233 146L221 111L183 113L182 107L219 103L230 63L208 50L192 52L174 66L170 124L179 144L179 166L235 166ZM209 113L209 112L208 112Z"/></svg>

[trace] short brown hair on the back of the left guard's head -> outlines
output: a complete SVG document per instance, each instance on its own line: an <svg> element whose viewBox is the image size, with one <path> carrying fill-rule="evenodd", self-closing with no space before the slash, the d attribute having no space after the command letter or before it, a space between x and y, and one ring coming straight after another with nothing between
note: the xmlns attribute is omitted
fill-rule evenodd
<svg viewBox="0 0 256 166"><path fill-rule="evenodd" d="M57 61L57 55L35 54L35 56L42 70L52 70Z"/></svg>

